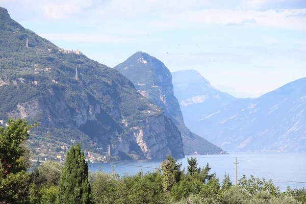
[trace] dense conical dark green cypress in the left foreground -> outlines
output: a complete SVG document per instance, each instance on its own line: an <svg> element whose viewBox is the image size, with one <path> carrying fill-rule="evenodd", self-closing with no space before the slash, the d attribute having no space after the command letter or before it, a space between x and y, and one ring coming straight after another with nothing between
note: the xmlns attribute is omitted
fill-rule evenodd
<svg viewBox="0 0 306 204"><path fill-rule="evenodd" d="M59 183L58 203L90 203L91 189L88 181L88 164L81 144L71 146Z"/></svg>

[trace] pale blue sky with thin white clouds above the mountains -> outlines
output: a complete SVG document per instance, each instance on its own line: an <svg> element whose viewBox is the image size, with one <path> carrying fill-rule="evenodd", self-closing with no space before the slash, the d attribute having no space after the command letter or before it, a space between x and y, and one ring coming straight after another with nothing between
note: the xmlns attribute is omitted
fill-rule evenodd
<svg viewBox="0 0 306 204"><path fill-rule="evenodd" d="M23 27L114 67L138 51L258 97L306 77L305 0L0 0Z"/></svg>

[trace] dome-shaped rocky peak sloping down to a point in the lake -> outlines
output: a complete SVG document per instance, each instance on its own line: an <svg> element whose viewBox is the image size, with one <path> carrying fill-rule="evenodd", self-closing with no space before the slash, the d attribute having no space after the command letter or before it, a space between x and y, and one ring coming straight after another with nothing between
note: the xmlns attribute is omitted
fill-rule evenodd
<svg viewBox="0 0 306 204"><path fill-rule="evenodd" d="M186 154L218 154L222 149L193 134L185 126L179 102L173 94L172 76L168 68L155 57L135 53L114 67L134 83L138 92L161 107L182 133Z"/></svg>

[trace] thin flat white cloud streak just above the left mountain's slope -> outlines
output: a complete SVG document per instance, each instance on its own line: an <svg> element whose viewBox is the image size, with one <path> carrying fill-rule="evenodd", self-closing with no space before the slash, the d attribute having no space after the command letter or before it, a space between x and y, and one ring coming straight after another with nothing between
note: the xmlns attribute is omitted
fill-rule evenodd
<svg viewBox="0 0 306 204"><path fill-rule="evenodd" d="M117 37L106 34L58 34L58 33L41 33L38 34L48 40L62 40L67 42L124 42L130 41L131 38Z"/></svg>

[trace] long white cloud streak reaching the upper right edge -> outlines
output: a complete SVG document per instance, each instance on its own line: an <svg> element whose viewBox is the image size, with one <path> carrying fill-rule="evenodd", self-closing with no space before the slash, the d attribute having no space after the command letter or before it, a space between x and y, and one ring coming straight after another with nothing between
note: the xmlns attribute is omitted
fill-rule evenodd
<svg viewBox="0 0 306 204"><path fill-rule="evenodd" d="M283 10L281 12L276 12L273 10L243 11L229 9L205 9L199 11L185 11L179 14L169 14L167 19L177 22L189 22L193 23L189 25L197 26L199 24L240 24L245 20L253 19L254 23L251 23L253 26L306 30L306 17L287 17L288 15L296 15L305 12L306 9Z"/></svg>

